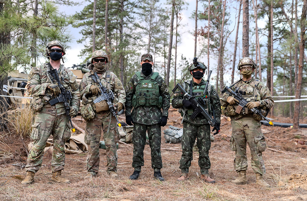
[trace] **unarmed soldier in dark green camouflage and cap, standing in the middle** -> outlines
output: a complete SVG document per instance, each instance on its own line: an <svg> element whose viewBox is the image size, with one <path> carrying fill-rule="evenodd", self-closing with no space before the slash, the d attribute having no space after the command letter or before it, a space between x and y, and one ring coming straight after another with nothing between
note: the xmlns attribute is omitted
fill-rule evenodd
<svg viewBox="0 0 307 201"><path fill-rule="evenodd" d="M130 179L138 179L144 166L146 130L151 149L151 167L154 178L164 181L161 175L161 126L167 123L169 109L169 89L159 73L152 72L153 57L143 54L142 71L136 72L126 86L126 123L133 125L133 174ZM131 112L132 106L134 109ZM162 112L161 112L162 108Z"/></svg>

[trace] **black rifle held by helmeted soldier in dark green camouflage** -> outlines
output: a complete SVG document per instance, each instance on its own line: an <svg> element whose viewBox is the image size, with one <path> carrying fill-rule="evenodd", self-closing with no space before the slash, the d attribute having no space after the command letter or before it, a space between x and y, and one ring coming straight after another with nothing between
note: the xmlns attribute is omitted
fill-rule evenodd
<svg viewBox="0 0 307 201"><path fill-rule="evenodd" d="M212 71L209 72L208 75L208 80L210 78ZM208 83L207 80L207 83ZM206 85L207 88L207 85ZM212 118L212 116L204 109L204 107L202 105L207 104L206 101L204 101L204 99L202 97L198 98L198 100L196 100L195 96L188 94L185 89L183 89L183 87L177 83L177 85L175 86L175 88L172 90L173 93L175 93L177 91L177 89L179 89L181 91L181 93L183 94L184 97L187 98L188 101L191 102L192 104L192 108L194 110L194 112L192 113L192 115L190 116L190 118L193 120L196 118L196 116L198 116L199 114L201 114L202 116L205 117L206 120L208 120L208 123L212 126L215 127L216 126L216 121ZM205 89L206 90L206 89ZM207 105L208 106L208 105ZM218 131L220 132L220 131Z"/></svg>

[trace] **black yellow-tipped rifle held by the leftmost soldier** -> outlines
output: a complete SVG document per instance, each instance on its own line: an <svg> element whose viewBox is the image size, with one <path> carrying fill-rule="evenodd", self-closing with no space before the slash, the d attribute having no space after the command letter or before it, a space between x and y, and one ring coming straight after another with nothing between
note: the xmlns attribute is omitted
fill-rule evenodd
<svg viewBox="0 0 307 201"><path fill-rule="evenodd" d="M53 76L53 78L56 80L58 87L60 88L60 91L61 91L59 96L49 101L49 103L50 105L55 105L61 102L63 103L66 116L68 120L70 121L70 125L72 126L72 132L76 132L76 129L72 125L72 117L69 115L70 106L69 106L68 101L72 98L72 93L69 90L66 90L64 86L61 84L60 78L59 78L59 75L56 69L49 70L48 73L50 73ZM62 77L62 81L64 82L63 77Z"/></svg>

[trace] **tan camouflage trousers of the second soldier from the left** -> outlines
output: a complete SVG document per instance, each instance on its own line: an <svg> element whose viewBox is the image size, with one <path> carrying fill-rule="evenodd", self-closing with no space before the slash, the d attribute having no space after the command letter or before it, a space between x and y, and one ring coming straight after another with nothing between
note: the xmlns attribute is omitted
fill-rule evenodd
<svg viewBox="0 0 307 201"><path fill-rule="evenodd" d="M86 168L87 172L96 175L99 170L99 143L101 137L101 128L103 130L103 139L107 151L107 172L116 171L117 149L116 143L119 140L117 122L114 116L110 115L103 119L94 118L86 121L84 141L88 146L88 155ZM108 131L109 127L109 132Z"/></svg>

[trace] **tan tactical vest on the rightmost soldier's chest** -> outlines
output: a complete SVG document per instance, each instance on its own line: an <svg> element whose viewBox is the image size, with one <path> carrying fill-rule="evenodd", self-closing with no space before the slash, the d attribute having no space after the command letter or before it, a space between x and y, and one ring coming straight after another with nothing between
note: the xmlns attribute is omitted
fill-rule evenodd
<svg viewBox="0 0 307 201"><path fill-rule="evenodd" d="M244 83L242 81L242 82L237 83L235 85L234 91L235 90L239 90L239 93L248 102L260 101L261 100L260 93L257 90L257 85L258 85L259 82L260 82L260 80L258 80L258 79L254 79L250 83ZM233 106L234 106L234 108L236 110L239 105L235 104ZM244 107L241 110L240 114L248 114L248 113L251 113L251 111L249 111L247 108Z"/></svg>

